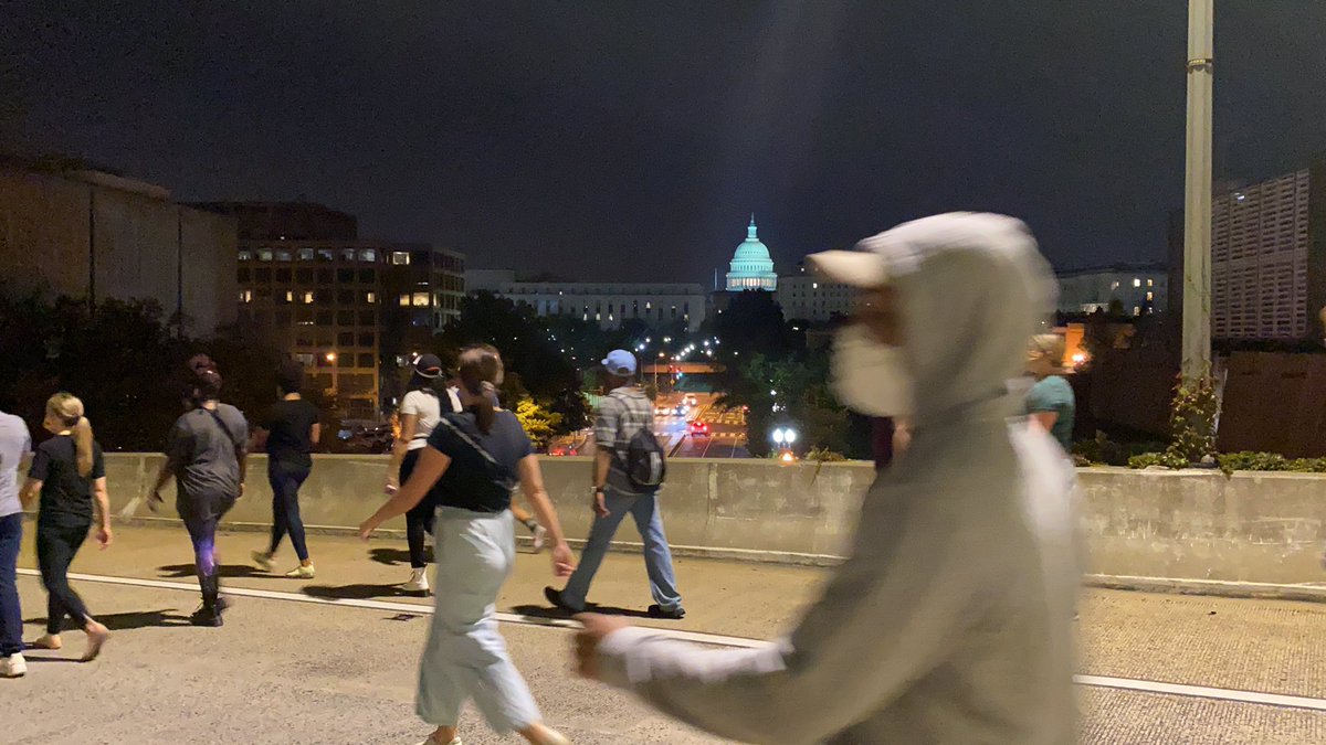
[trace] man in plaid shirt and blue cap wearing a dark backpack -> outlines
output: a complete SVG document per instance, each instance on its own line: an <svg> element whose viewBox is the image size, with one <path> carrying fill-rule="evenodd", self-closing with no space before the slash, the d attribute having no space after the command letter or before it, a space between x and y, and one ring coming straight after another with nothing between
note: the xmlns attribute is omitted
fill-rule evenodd
<svg viewBox="0 0 1326 745"><path fill-rule="evenodd" d="M644 538L644 567L654 594L650 615L679 619L686 611L676 591L672 550L663 534L663 516L658 508L663 452L654 440L654 404L636 384L635 371L635 355L626 350L613 350L603 359L610 392L594 412L594 440L598 443L590 494L594 525L581 554L579 569L566 582L566 589L557 591L546 587L544 595L560 608L583 611L594 573L603 562L617 526L630 513ZM651 456L655 479L638 472L643 460Z"/></svg>

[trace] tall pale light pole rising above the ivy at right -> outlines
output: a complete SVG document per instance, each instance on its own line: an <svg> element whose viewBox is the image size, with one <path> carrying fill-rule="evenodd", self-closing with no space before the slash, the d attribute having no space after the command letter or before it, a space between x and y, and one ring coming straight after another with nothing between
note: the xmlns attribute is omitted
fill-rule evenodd
<svg viewBox="0 0 1326 745"><path fill-rule="evenodd" d="M1188 175L1183 231L1183 378L1211 370L1213 0L1188 0Z"/></svg>

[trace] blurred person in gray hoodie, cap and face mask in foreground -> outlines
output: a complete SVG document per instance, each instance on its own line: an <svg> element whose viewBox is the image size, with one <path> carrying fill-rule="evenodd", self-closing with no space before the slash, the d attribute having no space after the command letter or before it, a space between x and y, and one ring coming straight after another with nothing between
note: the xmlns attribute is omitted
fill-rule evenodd
<svg viewBox="0 0 1326 745"><path fill-rule="evenodd" d="M1016 415L1026 338L1053 308L1026 227L939 215L813 257L858 288L834 353L845 404L911 444L789 638L712 650L581 615L581 675L744 742L1075 741L1071 473Z"/></svg>

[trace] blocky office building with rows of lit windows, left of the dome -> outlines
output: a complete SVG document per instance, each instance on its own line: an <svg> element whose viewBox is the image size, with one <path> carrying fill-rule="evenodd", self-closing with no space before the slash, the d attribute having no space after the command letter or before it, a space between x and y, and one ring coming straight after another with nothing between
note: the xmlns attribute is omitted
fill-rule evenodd
<svg viewBox="0 0 1326 745"><path fill-rule="evenodd" d="M321 204L207 207L240 225L240 329L302 362L347 419L379 418L407 347L459 313L459 253L359 239L353 216Z"/></svg>

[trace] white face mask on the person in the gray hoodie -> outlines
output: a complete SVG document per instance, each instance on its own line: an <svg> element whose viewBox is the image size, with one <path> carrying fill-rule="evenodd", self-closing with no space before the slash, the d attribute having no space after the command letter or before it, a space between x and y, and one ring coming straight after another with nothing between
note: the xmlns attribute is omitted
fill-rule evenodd
<svg viewBox="0 0 1326 745"><path fill-rule="evenodd" d="M915 412L914 382L903 349L882 345L861 323L838 331L833 353L833 388L847 408L869 416Z"/></svg>

